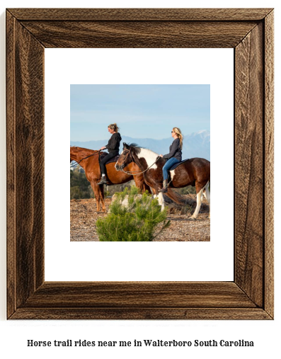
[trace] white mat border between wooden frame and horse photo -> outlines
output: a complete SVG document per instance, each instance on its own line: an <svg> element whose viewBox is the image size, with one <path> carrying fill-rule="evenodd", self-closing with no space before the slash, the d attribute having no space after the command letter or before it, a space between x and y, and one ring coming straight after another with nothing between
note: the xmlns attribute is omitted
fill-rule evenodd
<svg viewBox="0 0 281 359"><path fill-rule="evenodd" d="M233 69L233 49L45 50L45 280L233 280ZM70 84L210 84L210 242L70 242Z"/></svg>

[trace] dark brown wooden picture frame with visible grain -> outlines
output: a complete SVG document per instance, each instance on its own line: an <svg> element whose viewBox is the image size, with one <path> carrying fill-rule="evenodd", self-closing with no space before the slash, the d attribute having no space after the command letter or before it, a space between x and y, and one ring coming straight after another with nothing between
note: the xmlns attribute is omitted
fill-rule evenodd
<svg viewBox="0 0 281 359"><path fill-rule="evenodd" d="M273 9L10 8L6 30L8 319L273 319ZM45 47L234 48L233 282L45 282Z"/></svg>

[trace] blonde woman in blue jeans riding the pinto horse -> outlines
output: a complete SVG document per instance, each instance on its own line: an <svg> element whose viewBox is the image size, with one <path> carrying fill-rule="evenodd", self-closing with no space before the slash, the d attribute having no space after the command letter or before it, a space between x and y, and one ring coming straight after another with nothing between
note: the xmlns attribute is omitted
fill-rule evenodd
<svg viewBox="0 0 281 359"><path fill-rule="evenodd" d="M164 164L163 167L163 188L159 190L159 192L165 193L167 192L168 187L168 170L171 169L171 167L176 164L177 162L181 161L181 149L183 148L183 135L181 134L181 131L178 127L173 127L172 137L173 137L173 143L170 146L170 152L168 154L160 154L161 157L164 157L164 159L168 159L166 161L166 164Z"/></svg>

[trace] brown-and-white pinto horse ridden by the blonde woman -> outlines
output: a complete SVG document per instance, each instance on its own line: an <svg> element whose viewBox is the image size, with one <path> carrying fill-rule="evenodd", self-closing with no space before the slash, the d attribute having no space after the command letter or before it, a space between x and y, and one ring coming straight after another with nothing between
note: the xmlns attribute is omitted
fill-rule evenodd
<svg viewBox="0 0 281 359"><path fill-rule="evenodd" d="M142 170L144 175L144 181L148 186L153 188L154 193L159 193L159 203L162 205L164 210L164 198L163 193L159 192L163 184L163 172L162 168L166 163L166 159L159 156L150 149L144 149L138 147L136 144L125 144L123 152L120 154L115 167L117 171L124 171L127 163L134 161L137 166ZM170 171L171 181L168 183L168 197L175 200L176 203L180 203L178 197L174 197L173 191L169 191L170 188L182 188L186 186L195 186L197 194L197 204L195 212L191 217L193 220L196 219L200 206L202 203L202 195L204 194L209 203L209 217L210 217L210 161L207 159L188 159L183 161L176 169ZM180 203L182 204L182 203Z"/></svg>

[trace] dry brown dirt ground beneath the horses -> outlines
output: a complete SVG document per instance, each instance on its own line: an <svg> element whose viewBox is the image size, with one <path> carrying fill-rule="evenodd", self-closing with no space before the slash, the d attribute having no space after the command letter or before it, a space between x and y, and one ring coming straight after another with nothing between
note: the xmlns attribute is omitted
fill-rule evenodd
<svg viewBox="0 0 281 359"><path fill-rule="evenodd" d="M194 200L196 196L194 195ZM111 198L106 198L106 209ZM193 209L194 210L194 209ZM154 241L210 241L209 207L204 199L197 220L190 220L193 213L180 215L180 211L170 209L167 219L171 226L164 230ZM98 241L96 220L105 217L106 213L96 211L96 200L70 201L70 240Z"/></svg>

